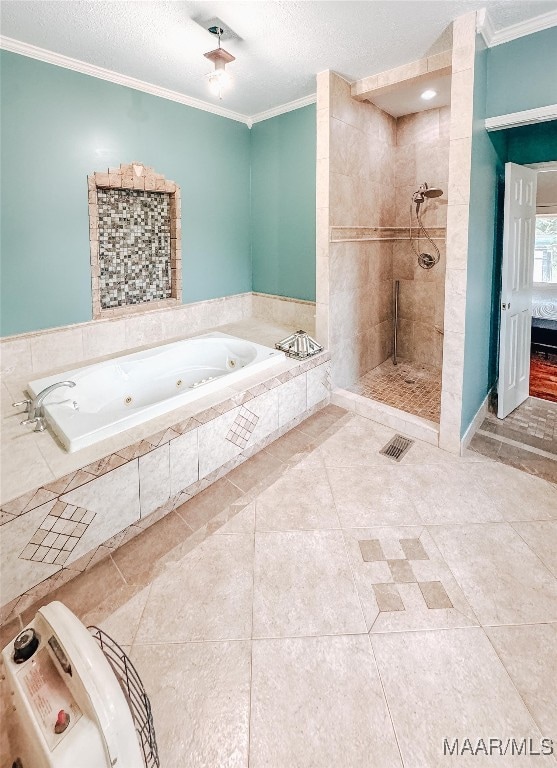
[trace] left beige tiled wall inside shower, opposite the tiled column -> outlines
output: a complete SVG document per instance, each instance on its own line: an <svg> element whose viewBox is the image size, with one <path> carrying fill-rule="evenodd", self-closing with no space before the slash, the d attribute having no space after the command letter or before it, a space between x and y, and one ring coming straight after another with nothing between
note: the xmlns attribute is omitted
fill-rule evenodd
<svg viewBox="0 0 557 768"><path fill-rule="evenodd" d="M382 362L390 344L381 326L392 322L392 243L329 243L320 250L320 230L394 223L396 121L352 99L350 85L333 73L329 94L329 209L320 209L327 218L318 215L317 235L318 260L329 258L328 290L325 278L318 281L317 316L321 305L318 327L328 321L333 381L349 384ZM318 111L321 103L318 90ZM319 270L327 274L324 265Z"/></svg>

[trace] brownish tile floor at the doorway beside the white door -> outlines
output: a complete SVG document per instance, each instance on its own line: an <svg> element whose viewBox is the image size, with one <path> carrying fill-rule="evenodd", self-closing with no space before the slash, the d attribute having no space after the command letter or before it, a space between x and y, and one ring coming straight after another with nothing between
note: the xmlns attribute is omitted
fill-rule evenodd
<svg viewBox="0 0 557 768"><path fill-rule="evenodd" d="M492 405L470 448L557 482L557 403L529 397L505 419L497 418Z"/></svg>

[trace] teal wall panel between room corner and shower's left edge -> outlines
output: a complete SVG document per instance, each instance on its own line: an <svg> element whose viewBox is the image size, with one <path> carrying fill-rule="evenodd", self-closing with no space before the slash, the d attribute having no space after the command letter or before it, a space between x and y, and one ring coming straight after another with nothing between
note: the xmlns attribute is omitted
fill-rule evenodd
<svg viewBox="0 0 557 768"><path fill-rule="evenodd" d="M315 300L315 105L251 129L253 290Z"/></svg>

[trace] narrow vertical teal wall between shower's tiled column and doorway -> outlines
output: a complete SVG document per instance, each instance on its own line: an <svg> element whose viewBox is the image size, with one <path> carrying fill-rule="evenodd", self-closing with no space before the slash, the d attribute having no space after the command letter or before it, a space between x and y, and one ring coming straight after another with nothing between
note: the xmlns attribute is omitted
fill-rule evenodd
<svg viewBox="0 0 557 768"><path fill-rule="evenodd" d="M477 39L474 70L474 124L468 224L466 326L461 434L470 426L496 377L501 158L484 128L488 51Z"/></svg>

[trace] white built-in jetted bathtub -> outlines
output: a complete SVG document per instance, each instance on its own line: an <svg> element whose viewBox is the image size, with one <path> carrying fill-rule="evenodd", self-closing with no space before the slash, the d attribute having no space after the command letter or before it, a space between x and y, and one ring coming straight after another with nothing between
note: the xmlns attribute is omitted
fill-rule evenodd
<svg viewBox="0 0 557 768"><path fill-rule="evenodd" d="M46 397L47 423L70 453L112 437L272 367L284 353L207 333L31 381L36 396L57 381L75 381Z"/></svg>

